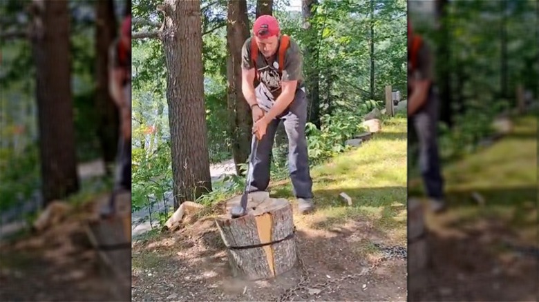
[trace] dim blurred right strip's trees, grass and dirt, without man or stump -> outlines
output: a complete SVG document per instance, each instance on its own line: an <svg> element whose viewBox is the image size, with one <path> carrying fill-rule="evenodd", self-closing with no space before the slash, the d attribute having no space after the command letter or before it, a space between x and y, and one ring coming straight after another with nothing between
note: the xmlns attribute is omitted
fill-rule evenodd
<svg viewBox="0 0 539 302"><path fill-rule="evenodd" d="M448 205L424 212L409 301L539 299L538 16L538 1L408 1L435 57ZM412 130L408 196L422 199L417 148Z"/></svg>

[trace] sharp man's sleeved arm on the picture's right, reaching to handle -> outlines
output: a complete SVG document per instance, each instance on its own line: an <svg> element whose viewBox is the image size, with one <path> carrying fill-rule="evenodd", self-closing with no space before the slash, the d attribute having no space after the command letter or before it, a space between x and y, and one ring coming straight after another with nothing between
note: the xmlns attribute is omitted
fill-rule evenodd
<svg viewBox="0 0 539 302"><path fill-rule="evenodd" d="M269 112L265 115L267 121L271 121L283 113L288 105L294 101L298 79L301 77L303 56L299 46L290 41L285 57L285 66L283 68L283 77L281 78L281 94L275 100L275 103Z"/></svg>

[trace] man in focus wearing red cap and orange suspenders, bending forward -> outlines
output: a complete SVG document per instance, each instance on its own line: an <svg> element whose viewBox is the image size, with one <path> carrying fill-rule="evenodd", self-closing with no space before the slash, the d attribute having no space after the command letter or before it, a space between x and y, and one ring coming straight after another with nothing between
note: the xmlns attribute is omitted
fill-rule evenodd
<svg viewBox="0 0 539 302"><path fill-rule="evenodd" d="M314 210L314 204L305 137L307 99L302 76L303 56L295 41L281 35L278 21L272 16L258 17L253 34L242 49L242 91L252 110L253 132L258 139L254 164L249 163L252 179L249 191L263 191L269 185L269 154L277 126L283 121L294 194L299 212L307 214ZM280 56L278 50L282 50L283 55ZM256 88L255 77L259 81Z"/></svg>

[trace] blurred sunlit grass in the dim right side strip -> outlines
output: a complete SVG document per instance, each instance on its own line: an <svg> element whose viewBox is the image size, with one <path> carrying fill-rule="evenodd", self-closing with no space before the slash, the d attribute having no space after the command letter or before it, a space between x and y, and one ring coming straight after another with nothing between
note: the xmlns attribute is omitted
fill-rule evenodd
<svg viewBox="0 0 539 302"><path fill-rule="evenodd" d="M496 221L519 241L537 245L538 118L518 117L513 123L507 137L444 167L450 208L443 221L459 228Z"/></svg>

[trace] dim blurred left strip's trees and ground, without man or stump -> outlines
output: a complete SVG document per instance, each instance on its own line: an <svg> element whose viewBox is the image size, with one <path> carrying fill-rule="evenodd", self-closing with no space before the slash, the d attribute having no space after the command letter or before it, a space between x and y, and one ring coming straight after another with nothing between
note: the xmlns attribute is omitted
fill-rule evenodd
<svg viewBox="0 0 539 302"><path fill-rule="evenodd" d="M117 299L85 226L113 187L108 49L126 12L131 1L0 1L1 301Z"/></svg>

